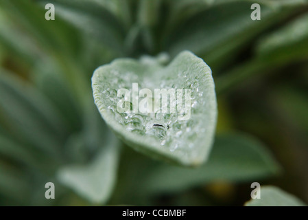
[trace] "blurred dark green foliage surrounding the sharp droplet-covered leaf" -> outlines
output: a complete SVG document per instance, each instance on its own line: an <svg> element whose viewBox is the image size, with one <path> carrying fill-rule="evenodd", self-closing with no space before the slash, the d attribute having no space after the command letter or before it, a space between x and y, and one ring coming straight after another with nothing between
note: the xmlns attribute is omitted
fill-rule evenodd
<svg viewBox="0 0 308 220"><path fill-rule="evenodd" d="M91 90L115 58L183 50L211 67L217 93L215 144L198 168L124 146ZM307 203L307 61L305 0L1 0L0 205L241 206L253 181ZM300 204L264 193L256 205Z"/></svg>

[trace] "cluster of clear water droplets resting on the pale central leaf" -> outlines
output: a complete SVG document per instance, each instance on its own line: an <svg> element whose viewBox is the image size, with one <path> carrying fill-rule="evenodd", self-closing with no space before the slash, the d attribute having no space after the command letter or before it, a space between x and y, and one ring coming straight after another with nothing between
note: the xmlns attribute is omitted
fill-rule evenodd
<svg viewBox="0 0 308 220"><path fill-rule="evenodd" d="M203 101L203 91L200 91L200 83L204 83L202 77L187 76L187 72L178 73L176 78L162 77L160 81L143 80L137 74L128 72L119 74L112 72L110 78L105 78L102 88L102 100L108 111L115 115L115 120L124 126L128 131L139 135L150 135L162 146L169 148L169 151L185 151L185 149L193 148L193 140L198 137L198 133L204 132L204 124L200 121L202 109L205 109ZM105 76L106 77L106 76ZM106 83L108 82L108 83ZM151 89L154 94L154 88L157 89L191 89L191 107L190 118L188 120L179 120L180 116L187 112L176 109L176 113L132 113L132 111L120 113L117 110L118 102L128 102L130 110L132 110L132 100L124 100L123 97L117 97L117 91L125 88L130 91L132 96L132 83L138 83L139 90L143 88ZM111 89L112 88L112 89ZM176 94L177 95L177 94ZM183 101L185 96L183 95ZM177 97L177 96L176 96ZM142 98L139 98L139 101ZM124 104L124 103L123 103ZM169 104L169 103L168 103ZM184 102L185 104L185 102ZM169 111L169 107L168 107ZM202 130L203 129L203 130Z"/></svg>

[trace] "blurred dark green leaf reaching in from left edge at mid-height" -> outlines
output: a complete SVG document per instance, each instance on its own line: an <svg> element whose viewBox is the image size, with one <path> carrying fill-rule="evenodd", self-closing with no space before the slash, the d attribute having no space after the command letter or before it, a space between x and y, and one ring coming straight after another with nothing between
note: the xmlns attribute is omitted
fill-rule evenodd
<svg viewBox="0 0 308 220"><path fill-rule="evenodd" d="M58 111L40 91L1 71L0 109L8 130L18 139L61 158L60 146L67 131Z"/></svg>

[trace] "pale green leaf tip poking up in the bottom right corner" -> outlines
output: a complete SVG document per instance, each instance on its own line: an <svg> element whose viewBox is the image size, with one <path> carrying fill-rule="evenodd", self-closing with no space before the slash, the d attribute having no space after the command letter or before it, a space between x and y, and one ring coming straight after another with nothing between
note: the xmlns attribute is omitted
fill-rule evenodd
<svg viewBox="0 0 308 220"><path fill-rule="evenodd" d="M275 186L261 186L261 198L251 199L245 206L307 206L303 201Z"/></svg>

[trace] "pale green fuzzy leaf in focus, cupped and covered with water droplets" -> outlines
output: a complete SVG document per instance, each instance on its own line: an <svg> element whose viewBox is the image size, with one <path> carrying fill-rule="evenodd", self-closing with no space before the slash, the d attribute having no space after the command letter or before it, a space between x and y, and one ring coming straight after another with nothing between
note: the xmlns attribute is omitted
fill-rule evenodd
<svg viewBox="0 0 308 220"><path fill-rule="evenodd" d="M180 53L167 67L159 59L117 59L96 69L92 77L95 104L108 126L132 148L158 159L198 166L208 157L215 132L217 103L211 69L191 52ZM117 90L130 89L132 83L152 91L191 89L191 104L187 104L191 109L184 114L191 114L190 118L181 120L179 107L176 113L119 113ZM150 94L147 99L153 100Z"/></svg>

